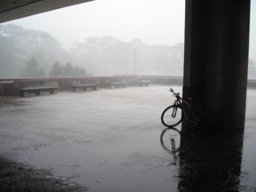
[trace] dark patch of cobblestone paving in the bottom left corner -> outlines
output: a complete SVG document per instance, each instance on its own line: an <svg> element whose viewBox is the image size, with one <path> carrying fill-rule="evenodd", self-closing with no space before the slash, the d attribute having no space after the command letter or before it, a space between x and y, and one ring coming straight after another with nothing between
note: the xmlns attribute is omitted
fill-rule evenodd
<svg viewBox="0 0 256 192"><path fill-rule="evenodd" d="M44 168L9 162L0 164L0 192L84 192L74 177L54 176Z"/></svg>

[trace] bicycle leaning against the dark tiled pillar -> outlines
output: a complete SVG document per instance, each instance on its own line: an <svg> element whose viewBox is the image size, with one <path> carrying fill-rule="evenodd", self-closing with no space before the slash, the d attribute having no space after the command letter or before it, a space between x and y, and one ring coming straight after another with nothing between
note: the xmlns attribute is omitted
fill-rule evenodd
<svg viewBox="0 0 256 192"><path fill-rule="evenodd" d="M208 131L207 116L199 106L195 105L195 99L189 98L190 103L188 103L180 97L180 93L175 93L172 88L170 89L169 91L172 92L176 99L174 105L169 106L163 111L161 116L163 125L174 127L180 124L185 116L186 122L194 129L195 133L199 135L206 134ZM189 107L188 111L184 108L184 104Z"/></svg>

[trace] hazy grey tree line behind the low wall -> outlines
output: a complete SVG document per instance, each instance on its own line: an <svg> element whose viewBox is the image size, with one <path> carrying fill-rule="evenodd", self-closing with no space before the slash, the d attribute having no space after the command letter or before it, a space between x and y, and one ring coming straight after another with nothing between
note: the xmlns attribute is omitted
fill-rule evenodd
<svg viewBox="0 0 256 192"><path fill-rule="evenodd" d="M124 42L103 36L74 42L67 51L50 34L14 24L0 25L0 42L0 79L135 73L183 76L183 43L150 46L141 39Z"/></svg>

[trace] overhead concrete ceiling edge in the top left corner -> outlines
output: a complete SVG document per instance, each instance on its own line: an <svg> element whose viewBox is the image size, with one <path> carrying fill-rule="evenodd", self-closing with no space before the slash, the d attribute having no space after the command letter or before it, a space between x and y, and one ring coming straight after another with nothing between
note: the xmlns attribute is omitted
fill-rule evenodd
<svg viewBox="0 0 256 192"><path fill-rule="evenodd" d="M0 0L0 23L92 0Z"/></svg>

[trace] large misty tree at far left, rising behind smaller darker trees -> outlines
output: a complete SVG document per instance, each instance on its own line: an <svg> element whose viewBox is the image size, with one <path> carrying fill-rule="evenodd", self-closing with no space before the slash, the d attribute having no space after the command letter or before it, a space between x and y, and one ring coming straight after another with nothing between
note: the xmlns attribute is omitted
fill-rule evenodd
<svg viewBox="0 0 256 192"><path fill-rule="evenodd" d="M49 33L25 29L15 24L0 25L0 71L10 77L17 77L25 61L35 56L49 74L51 64L55 61L66 63L75 58L64 49L57 39Z"/></svg>

